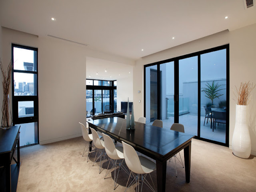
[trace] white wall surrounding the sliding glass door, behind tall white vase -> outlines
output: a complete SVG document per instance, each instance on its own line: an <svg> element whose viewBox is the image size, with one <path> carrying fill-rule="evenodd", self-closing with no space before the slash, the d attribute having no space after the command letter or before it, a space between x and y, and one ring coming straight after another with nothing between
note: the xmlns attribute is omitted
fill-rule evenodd
<svg viewBox="0 0 256 192"><path fill-rule="evenodd" d="M250 81L256 83L256 63L255 63L255 47L256 47L256 24L247 26L238 30L229 32L228 30L219 32L217 34L207 36L168 50L164 50L150 56L146 56L136 61L134 67L134 88L139 90L144 89L143 84L143 65L154 63L168 58L174 58L185 54L198 52L208 48L230 44L230 145L232 144L232 136L234 132L234 119L236 102L233 100L234 94L232 89L239 86L240 82ZM252 92L253 97L249 105L249 129L252 141L252 154L256 155L256 89ZM143 96L134 92L134 100L141 99ZM144 116L144 101L140 105L135 105L136 116Z"/></svg>

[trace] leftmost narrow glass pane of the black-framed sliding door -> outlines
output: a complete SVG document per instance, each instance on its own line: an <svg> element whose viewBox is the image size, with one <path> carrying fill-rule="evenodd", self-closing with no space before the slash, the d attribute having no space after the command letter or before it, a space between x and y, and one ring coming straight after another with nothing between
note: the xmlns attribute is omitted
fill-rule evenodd
<svg viewBox="0 0 256 192"><path fill-rule="evenodd" d="M146 123L157 119L157 65L146 67Z"/></svg>

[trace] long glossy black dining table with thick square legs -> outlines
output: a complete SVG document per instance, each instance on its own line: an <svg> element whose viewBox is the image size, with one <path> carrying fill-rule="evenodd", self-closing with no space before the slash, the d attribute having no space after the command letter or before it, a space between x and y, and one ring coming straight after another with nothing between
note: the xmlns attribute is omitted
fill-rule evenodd
<svg viewBox="0 0 256 192"><path fill-rule="evenodd" d="M136 151L156 160L157 191L165 192L166 161L184 149L186 182L190 182L190 134L135 122L135 129L126 129L126 119L119 117L87 121L90 128L103 132L118 142L126 142ZM90 129L89 129L90 132Z"/></svg>

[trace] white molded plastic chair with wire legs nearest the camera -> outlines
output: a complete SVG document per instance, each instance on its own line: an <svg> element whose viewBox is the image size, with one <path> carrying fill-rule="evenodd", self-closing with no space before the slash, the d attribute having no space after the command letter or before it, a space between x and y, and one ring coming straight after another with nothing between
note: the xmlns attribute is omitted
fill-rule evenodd
<svg viewBox="0 0 256 192"><path fill-rule="evenodd" d="M127 186L128 182L130 180L130 176L129 176L127 184L126 184L125 192L135 182L136 182L136 191L137 191L137 186L138 186L138 190L139 190L140 182L141 182L141 191L142 191L143 184L145 183L152 191L155 192L156 189L155 189L154 183L152 181L152 178L150 176L150 173L153 172L154 170L156 170L156 163L149 160L148 158L146 158L144 156L138 156L135 149L132 146L130 146L129 144L127 144L123 141L122 141L122 144L124 147L124 160L125 160L128 168L131 170L130 176L131 176L131 174L134 176L134 179L132 180L132 182L129 184L129 186ZM147 174L149 174L154 188L152 188L152 186L146 180ZM141 175L141 177L140 177L140 175Z"/></svg>

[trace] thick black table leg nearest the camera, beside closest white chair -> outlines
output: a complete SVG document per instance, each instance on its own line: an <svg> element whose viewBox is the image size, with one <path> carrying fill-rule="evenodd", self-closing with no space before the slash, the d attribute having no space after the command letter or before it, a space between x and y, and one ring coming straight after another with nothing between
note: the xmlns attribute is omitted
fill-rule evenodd
<svg viewBox="0 0 256 192"><path fill-rule="evenodd" d="M165 192L166 161L161 162L156 160L156 179L157 179L157 191Z"/></svg>

